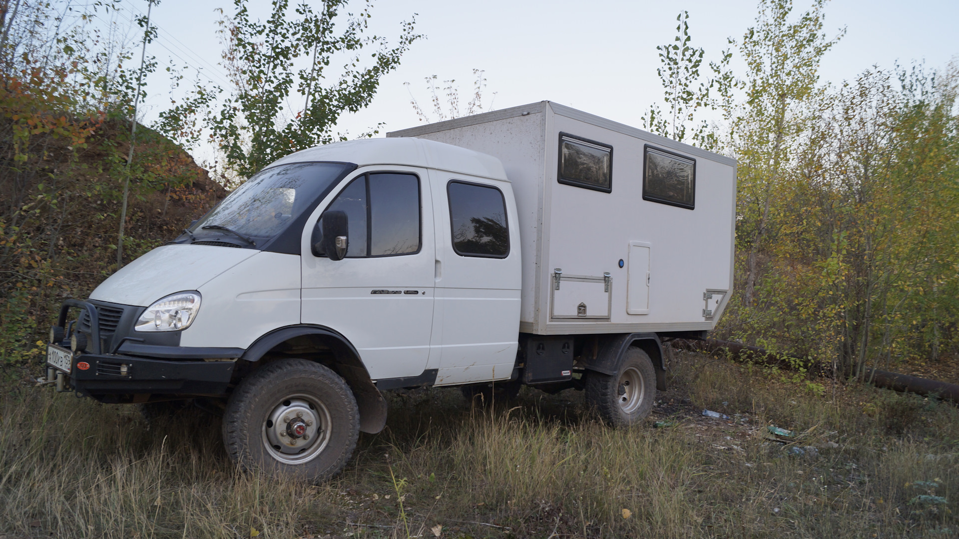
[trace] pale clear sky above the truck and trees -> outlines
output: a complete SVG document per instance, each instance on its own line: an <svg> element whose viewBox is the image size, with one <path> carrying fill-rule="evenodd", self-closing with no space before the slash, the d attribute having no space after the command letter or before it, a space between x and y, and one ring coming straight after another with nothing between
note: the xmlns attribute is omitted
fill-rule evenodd
<svg viewBox="0 0 959 539"><path fill-rule="evenodd" d="M139 12L147 9L146 0L128 5ZM806 7L797 0L794 12ZM148 55L165 61L175 54L178 63L202 67L222 83L218 8L230 13L233 7L224 0L162 0L152 9L160 38ZM383 136L414 127L421 122L409 102L412 96L429 105L425 78L456 80L465 103L473 93L473 69L484 70L486 108L490 101L493 108L506 108L550 100L641 127L643 112L662 99L656 46L672 41L676 15L690 12L692 44L705 48L707 59L718 59L729 47L727 38L741 37L754 23L756 8L756 0L380 0L372 10L372 32L395 42L401 21L416 13L416 32L426 37L414 42L399 68L381 79L372 104L342 117L338 130L358 135L382 122ZM251 6L254 16L263 18L268 9L265 0ZM832 0L825 20L828 35L842 29L846 35L823 60L824 82L852 80L874 65L891 69L897 62L924 60L928 67L944 68L950 59L959 61L955 0ZM163 73L150 82L148 122L169 103ZM199 160L202 153L196 155Z"/></svg>

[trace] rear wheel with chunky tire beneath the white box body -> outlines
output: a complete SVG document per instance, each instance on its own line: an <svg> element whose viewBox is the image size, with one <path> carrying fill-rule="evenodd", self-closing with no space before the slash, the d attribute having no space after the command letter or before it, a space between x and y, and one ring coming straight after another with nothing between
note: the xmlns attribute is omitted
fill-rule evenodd
<svg viewBox="0 0 959 539"><path fill-rule="evenodd" d="M653 363L642 349L635 346L630 346L623 353L615 375L596 371L586 375L586 402L611 427L639 424L653 409L655 399L656 372Z"/></svg>

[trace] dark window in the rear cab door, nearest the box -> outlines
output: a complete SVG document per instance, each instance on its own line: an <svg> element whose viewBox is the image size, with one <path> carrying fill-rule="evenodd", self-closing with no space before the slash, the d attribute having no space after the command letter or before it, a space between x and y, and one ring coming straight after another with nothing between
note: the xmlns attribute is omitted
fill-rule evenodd
<svg viewBox="0 0 959 539"><path fill-rule="evenodd" d="M446 194L456 254L484 258L509 255L509 226L502 191L490 185L452 180L446 186Z"/></svg>

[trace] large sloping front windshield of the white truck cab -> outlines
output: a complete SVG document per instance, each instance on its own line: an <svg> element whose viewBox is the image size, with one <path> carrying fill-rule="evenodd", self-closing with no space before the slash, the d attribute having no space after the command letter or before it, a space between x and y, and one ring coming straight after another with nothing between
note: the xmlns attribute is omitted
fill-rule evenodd
<svg viewBox="0 0 959 539"><path fill-rule="evenodd" d="M352 165L292 163L271 167L246 180L199 222L196 236L216 234L230 242L262 244L282 232Z"/></svg>

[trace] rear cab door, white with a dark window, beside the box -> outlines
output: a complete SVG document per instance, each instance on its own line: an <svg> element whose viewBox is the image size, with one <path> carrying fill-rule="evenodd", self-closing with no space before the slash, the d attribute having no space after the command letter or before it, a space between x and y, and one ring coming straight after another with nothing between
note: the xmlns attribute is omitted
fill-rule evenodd
<svg viewBox="0 0 959 539"><path fill-rule="evenodd" d="M430 171L436 223L436 385L503 380L516 361L520 237L508 182ZM508 211L507 211L508 208Z"/></svg>

